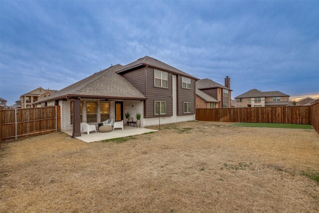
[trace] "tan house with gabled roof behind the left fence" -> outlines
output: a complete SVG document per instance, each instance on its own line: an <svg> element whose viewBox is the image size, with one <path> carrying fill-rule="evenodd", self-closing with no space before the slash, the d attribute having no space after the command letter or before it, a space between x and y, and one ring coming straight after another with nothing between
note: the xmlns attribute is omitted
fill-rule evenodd
<svg viewBox="0 0 319 213"><path fill-rule="evenodd" d="M46 96L50 96L57 92L58 90L43 89L42 87L36 88L20 96L21 108L40 107L40 104L34 104L34 102L37 102Z"/></svg>

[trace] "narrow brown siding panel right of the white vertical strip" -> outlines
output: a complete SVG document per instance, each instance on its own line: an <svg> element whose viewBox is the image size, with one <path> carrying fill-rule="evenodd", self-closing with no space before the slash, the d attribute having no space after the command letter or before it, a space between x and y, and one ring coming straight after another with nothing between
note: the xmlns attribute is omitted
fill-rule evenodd
<svg viewBox="0 0 319 213"><path fill-rule="evenodd" d="M190 79L190 89L181 87L181 76L177 77L177 115L193 115L195 114L195 80ZM184 113L184 102L191 103L191 113Z"/></svg>

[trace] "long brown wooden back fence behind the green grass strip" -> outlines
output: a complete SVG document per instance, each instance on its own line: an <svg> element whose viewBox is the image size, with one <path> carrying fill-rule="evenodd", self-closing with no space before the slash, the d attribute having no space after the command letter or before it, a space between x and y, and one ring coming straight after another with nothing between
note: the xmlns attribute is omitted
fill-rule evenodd
<svg viewBox="0 0 319 213"><path fill-rule="evenodd" d="M196 109L196 120L285 124L311 123L310 106Z"/></svg>

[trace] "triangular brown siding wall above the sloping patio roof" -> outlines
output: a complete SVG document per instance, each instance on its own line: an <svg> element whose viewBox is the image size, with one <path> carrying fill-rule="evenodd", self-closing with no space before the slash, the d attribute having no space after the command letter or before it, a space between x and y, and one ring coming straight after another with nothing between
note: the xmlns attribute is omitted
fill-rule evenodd
<svg viewBox="0 0 319 213"><path fill-rule="evenodd" d="M128 81L145 95L145 67L123 74Z"/></svg>

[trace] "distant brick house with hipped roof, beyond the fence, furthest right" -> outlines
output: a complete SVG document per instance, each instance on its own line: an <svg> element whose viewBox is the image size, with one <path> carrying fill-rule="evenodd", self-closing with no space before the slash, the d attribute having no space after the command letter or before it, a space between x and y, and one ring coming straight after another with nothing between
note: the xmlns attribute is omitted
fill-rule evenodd
<svg viewBox="0 0 319 213"><path fill-rule="evenodd" d="M288 106L289 95L280 91L249 90L235 97L236 107Z"/></svg>

